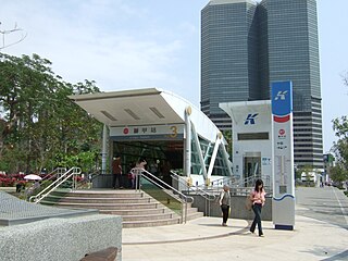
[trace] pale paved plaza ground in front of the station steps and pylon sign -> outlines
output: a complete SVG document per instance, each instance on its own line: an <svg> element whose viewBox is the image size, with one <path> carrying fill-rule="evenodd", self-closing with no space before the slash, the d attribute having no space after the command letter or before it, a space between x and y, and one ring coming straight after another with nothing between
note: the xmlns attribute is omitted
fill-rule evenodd
<svg viewBox="0 0 348 261"><path fill-rule="evenodd" d="M298 188L294 231L263 222L265 237L249 222L200 217L184 225L123 229L123 261L348 260L348 198L337 188ZM318 216L318 219L315 217Z"/></svg>

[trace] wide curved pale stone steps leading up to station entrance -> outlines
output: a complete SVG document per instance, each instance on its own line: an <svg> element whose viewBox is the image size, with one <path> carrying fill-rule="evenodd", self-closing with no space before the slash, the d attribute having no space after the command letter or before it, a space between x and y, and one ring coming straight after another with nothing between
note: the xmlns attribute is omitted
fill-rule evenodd
<svg viewBox="0 0 348 261"><path fill-rule="evenodd" d="M41 201L59 208L98 209L123 217L123 227L179 224L182 216L144 191L134 189L54 191ZM187 220L202 216L188 203Z"/></svg>

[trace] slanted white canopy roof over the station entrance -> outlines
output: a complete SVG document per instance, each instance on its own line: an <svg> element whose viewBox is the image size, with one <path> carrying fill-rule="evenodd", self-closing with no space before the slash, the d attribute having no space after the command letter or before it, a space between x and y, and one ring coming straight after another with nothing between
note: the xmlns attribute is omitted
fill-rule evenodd
<svg viewBox="0 0 348 261"><path fill-rule="evenodd" d="M190 108L190 120L199 136L215 140L220 132L189 101L158 88L73 95L69 98L110 127L184 124L185 110Z"/></svg>

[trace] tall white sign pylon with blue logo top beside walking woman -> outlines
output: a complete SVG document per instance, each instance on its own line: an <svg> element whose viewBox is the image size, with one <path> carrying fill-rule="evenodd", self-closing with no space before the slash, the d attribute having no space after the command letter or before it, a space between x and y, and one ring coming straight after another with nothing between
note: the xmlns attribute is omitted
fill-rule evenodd
<svg viewBox="0 0 348 261"><path fill-rule="evenodd" d="M272 84L273 202L276 229L294 229L295 178L291 82Z"/></svg>

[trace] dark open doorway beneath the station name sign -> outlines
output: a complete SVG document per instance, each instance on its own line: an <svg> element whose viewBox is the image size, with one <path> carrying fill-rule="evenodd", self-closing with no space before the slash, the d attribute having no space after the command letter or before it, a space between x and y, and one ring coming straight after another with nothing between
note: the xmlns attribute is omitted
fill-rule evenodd
<svg viewBox="0 0 348 261"><path fill-rule="evenodd" d="M171 170L183 173L183 140L113 141L113 156L121 156L124 173L128 173L139 159L146 159L146 170L171 185Z"/></svg>

